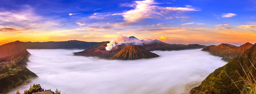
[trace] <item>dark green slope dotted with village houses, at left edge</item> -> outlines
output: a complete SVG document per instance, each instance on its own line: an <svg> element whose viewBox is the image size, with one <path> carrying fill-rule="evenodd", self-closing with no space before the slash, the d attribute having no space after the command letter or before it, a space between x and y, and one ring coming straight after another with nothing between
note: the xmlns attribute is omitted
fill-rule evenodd
<svg viewBox="0 0 256 94"><path fill-rule="evenodd" d="M25 50L21 53L0 59L0 93L6 93L22 85L26 80L38 77L35 73L28 70L28 68L23 67L29 61L27 59L29 55L30 53ZM10 60L14 62L10 62ZM3 62L9 63L3 64Z"/></svg>

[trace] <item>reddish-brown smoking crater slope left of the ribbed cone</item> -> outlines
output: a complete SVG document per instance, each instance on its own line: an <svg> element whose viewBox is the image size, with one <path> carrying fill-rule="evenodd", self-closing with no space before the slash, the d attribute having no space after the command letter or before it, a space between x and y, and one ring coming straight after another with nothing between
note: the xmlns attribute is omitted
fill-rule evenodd
<svg viewBox="0 0 256 94"><path fill-rule="evenodd" d="M104 42L99 42L98 44L91 46L85 50L83 50L82 52L76 52L74 53L74 55L77 56L96 56L96 57L100 57L100 58L106 58L112 55L115 55L116 53L118 53L120 50L122 50L122 46L116 46L114 48L112 48L112 50L106 50L107 47L107 43L109 43L109 41L104 41Z"/></svg>

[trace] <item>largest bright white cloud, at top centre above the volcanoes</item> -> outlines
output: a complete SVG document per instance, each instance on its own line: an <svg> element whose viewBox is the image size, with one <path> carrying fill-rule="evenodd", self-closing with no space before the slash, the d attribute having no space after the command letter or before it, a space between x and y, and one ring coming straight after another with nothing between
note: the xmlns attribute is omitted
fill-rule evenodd
<svg viewBox="0 0 256 94"><path fill-rule="evenodd" d="M133 4L126 4L126 6L133 7L134 9L126 11L124 13L115 13L113 15L122 15L126 22L139 22L142 19L174 19L178 18L178 14L188 11L200 11L192 8L192 6L186 7L161 7L157 6L153 0L134 1Z"/></svg>

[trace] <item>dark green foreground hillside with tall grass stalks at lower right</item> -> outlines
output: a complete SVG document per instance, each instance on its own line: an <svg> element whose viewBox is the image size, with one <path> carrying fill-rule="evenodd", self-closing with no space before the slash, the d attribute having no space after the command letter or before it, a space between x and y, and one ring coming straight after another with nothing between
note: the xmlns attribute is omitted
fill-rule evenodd
<svg viewBox="0 0 256 94"><path fill-rule="evenodd" d="M242 67L243 68L248 67L248 69L251 71L251 73L253 75L256 75L255 74L256 71L253 68L253 66L249 60L252 62L252 64L255 65L255 63L256 63L256 44L254 44L250 49L246 50L242 55L235 57L233 60L231 60L229 63L227 63L223 67L217 68L215 71L213 71L213 73L208 75L208 77L206 77L206 79L204 79L204 81L202 81L202 83L199 86L197 86L193 89L204 92L211 88L221 87L219 89L222 91L222 93L226 93L226 94L227 93L240 93L238 88L242 88L243 82L240 81L241 78L240 78L239 74L242 77L245 76L242 71ZM239 62L241 63L242 67ZM238 88L234 84L232 84L233 81L227 75L221 76L220 82L221 82L221 85L224 85L224 86L221 86L221 85L215 85L212 87L208 86L211 83L212 78L217 77L217 75L219 75L222 70L225 71L225 73L227 73L227 75L230 76L230 78L234 82L240 81L240 82L236 83L236 84L238 84ZM248 71L246 71L246 72L248 73ZM190 91L190 93L194 93L194 92L195 92L194 90ZM209 92L204 92L204 93L209 93Z"/></svg>

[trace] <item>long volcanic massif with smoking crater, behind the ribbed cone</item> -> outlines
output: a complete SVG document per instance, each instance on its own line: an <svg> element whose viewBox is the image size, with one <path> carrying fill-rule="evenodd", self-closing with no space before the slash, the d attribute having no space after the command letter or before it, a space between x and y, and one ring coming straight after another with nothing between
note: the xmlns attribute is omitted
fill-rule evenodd
<svg viewBox="0 0 256 94"><path fill-rule="evenodd" d="M193 49L193 48L204 48L204 45L198 45L198 44L189 44L189 45L181 45L181 44L167 44L165 42L159 41L157 39L147 39L145 40L139 40L136 37L129 37L126 40L121 43L121 45L118 45L111 50L106 50L107 43L109 41L100 42L96 45L91 46L90 48L87 48L83 50L82 52L76 52L74 55L77 56L96 56L100 58L107 58L109 56L113 56L117 54L119 51L121 51L123 48L125 48L128 45L139 45L145 48L149 51L154 50L184 50L184 49Z"/></svg>

